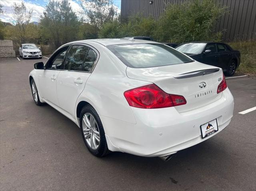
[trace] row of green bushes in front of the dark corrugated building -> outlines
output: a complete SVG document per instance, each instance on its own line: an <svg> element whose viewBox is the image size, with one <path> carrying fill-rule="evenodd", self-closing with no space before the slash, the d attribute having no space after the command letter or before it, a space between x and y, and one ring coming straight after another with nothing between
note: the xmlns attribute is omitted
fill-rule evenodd
<svg viewBox="0 0 256 191"><path fill-rule="evenodd" d="M225 7L218 7L212 0L185 1L169 4L159 18L130 17L120 24L117 20L107 22L99 37L150 36L156 41L176 43L188 41L220 41L222 33L213 33L213 25L225 13Z"/></svg>

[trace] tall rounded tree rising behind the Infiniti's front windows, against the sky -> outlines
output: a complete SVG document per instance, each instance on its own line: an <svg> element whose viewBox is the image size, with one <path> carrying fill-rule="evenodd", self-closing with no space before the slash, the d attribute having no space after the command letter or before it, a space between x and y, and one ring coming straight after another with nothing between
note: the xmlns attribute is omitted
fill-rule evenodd
<svg viewBox="0 0 256 191"><path fill-rule="evenodd" d="M40 17L40 23L42 38L53 41L56 49L76 39L78 18L66 0L50 0Z"/></svg>

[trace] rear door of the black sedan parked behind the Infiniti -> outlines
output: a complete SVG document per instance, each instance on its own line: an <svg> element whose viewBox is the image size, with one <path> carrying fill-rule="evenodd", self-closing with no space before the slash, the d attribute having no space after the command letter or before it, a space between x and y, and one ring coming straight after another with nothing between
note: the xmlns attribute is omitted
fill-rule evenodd
<svg viewBox="0 0 256 191"><path fill-rule="evenodd" d="M218 65L223 69L223 71L226 71L228 64L232 59L232 53L230 49L228 49L228 47L222 43L217 43L217 50L220 54Z"/></svg>

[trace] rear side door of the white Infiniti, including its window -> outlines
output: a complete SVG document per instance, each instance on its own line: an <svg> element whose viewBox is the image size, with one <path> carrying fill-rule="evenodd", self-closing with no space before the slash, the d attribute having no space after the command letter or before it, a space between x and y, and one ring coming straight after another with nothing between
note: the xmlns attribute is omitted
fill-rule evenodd
<svg viewBox="0 0 256 191"><path fill-rule="evenodd" d="M99 55L99 54L98 54ZM96 50L89 45L73 44L57 78L60 108L75 119L75 106L97 60Z"/></svg>

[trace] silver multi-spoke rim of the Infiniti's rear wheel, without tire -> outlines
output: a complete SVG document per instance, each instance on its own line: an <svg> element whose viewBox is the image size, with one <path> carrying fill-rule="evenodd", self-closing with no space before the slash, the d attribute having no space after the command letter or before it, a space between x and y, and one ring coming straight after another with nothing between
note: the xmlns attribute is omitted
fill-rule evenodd
<svg viewBox="0 0 256 191"><path fill-rule="evenodd" d="M84 139L88 146L96 150L100 145L100 132L98 124L90 113L85 113L82 119Z"/></svg>

